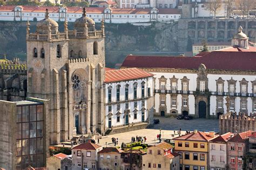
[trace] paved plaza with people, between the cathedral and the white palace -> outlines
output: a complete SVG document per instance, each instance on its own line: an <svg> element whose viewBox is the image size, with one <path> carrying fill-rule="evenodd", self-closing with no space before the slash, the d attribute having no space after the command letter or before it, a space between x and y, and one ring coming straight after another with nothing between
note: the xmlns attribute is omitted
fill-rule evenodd
<svg viewBox="0 0 256 170"><path fill-rule="evenodd" d="M161 128L161 138L172 139L178 137L178 130L181 128L181 134L185 134L186 131L215 131L219 132L219 121L218 119L192 119L190 121L177 120L176 118L165 118L165 117L154 117L160 120L159 124L154 125L149 129L141 129L136 131L130 131L125 133L111 134L109 136L104 136L99 140L99 145L102 146L114 146L111 138L118 138L118 145L124 143L130 143L131 137L142 136L146 137L146 144L159 143L157 140L157 134L160 133ZM175 134L174 134L175 131ZM174 137L173 137L174 134ZM97 143L97 140L96 140ZM62 145L58 145L62 146ZM66 147L71 147L70 145L65 145Z"/></svg>

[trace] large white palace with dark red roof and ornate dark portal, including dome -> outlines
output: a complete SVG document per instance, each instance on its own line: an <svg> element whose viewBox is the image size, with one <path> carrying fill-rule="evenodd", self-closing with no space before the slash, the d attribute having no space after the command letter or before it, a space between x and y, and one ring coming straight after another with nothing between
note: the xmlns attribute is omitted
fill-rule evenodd
<svg viewBox="0 0 256 170"><path fill-rule="evenodd" d="M248 46L242 27L232 47L187 56L128 55L121 68L154 74L154 114L218 118L233 112L256 112L256 48Z"/></svg>

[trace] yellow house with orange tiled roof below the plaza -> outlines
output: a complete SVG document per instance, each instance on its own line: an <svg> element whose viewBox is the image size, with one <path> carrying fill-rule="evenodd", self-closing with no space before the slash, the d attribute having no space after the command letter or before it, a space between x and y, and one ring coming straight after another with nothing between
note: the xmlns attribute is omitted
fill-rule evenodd
<svg viewBox="0 0 256 170"><path fill-rule="evenodd" d="M208 141L214 132L194 132L174 138L175 152L180 154L180 169L206 170L208 166Z"/></svg>

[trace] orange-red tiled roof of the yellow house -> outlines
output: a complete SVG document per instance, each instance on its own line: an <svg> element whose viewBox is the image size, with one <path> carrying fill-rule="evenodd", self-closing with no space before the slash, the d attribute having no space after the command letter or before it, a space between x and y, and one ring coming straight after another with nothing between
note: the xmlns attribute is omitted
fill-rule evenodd
<svg viewBox="0 0 256 170"><path fill-rule="evenodd" d="M180 137L173 138L174 140L193 140L193 141L209 141L210 139L215 138L211 137L210 133L208 132L191 132L188 134L185 134Z"/></svg>

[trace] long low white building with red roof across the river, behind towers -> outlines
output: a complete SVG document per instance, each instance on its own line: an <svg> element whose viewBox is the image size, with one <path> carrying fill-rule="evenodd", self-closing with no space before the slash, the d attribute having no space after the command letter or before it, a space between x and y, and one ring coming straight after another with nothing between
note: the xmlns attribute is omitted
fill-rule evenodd
<svg viewBox="0 0 256 170"><path fill-rule="evenodd" d="M45 10L48 9L49 16L56 22L75 22L82 17L82 7L58 7L58 6L0 6L0 20L5 21L36 21L45 17ZM147 22L171 22L180 19L181 10L178 9L133 9L133 8L86 8L87 16L100 23L147 23Z"/></svg>

